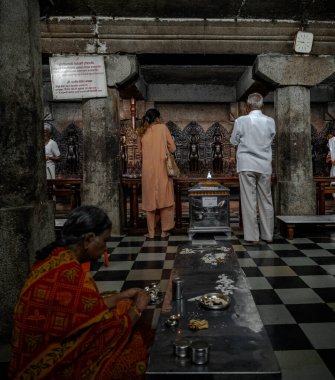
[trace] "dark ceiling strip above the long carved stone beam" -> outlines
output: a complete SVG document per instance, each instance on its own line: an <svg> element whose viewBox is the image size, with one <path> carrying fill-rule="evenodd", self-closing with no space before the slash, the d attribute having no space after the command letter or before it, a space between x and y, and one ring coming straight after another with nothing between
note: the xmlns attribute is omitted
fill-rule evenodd
<svg viewBox="0 0 335 380"><path fill-rule="evenodd" d="M334 0L40 0L43 16L335 20Z"/></svg>

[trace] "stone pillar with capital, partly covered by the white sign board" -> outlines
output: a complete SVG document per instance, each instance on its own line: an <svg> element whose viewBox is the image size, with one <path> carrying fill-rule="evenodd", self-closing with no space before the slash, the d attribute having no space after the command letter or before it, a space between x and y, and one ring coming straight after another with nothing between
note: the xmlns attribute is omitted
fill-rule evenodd
<svg viewBox="0 0 335 380"><path fill-rule="evenodd" d="M108 97L83 103L83 191L82 204L103 208L112 220L112 233L120 235L124 225L120 167L119 92L117 88L138 79L136 56L105 58Z"/></svg>

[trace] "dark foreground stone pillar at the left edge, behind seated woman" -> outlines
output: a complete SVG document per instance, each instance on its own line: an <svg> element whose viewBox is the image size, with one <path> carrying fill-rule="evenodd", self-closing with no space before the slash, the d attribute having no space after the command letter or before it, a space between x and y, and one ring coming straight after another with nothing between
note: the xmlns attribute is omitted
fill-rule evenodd
<svg viewBox="0 0 335 380"><path fill-rule="evenodd" d="M54 239L43 137L37 0L2 0L0 14L0 339L36 249Z"/></svg>

